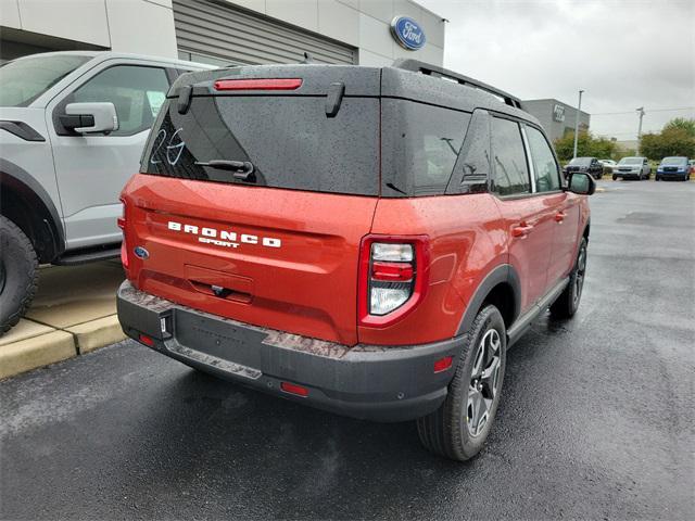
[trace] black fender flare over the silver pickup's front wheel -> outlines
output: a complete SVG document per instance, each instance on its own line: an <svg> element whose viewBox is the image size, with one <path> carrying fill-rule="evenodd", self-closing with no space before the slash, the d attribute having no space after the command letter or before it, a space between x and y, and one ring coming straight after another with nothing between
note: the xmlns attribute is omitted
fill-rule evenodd
<svg viewBox="0 0 695 521"><path fill-rule="evenodd" d="M31 216L34 221L42 223L39 228L45 231L43 242L49 241L50 243L42 244L45 247L40 249L43 251L43 255L39 255L41 257L40 262L51 262L63 253L65 250L63 221L46 189L26 170L1 157L0 189L0 194L8 189L17 193L26 205L35 212L35 215Z"/></svg>

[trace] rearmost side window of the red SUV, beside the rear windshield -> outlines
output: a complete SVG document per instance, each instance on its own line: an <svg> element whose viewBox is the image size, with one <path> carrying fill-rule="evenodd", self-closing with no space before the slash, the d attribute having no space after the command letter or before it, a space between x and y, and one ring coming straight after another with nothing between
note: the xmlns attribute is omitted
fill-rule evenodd
<svg viewBox="0 0 695 521"><path fill-rule="evenodd" d="M382 194L445 193L470 114L407 100L381 103Z"/></svg>

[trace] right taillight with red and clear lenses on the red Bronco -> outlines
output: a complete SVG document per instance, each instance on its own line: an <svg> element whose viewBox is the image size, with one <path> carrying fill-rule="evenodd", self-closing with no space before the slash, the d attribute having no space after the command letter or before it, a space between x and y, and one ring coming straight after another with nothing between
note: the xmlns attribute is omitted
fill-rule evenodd
<svg viewBox="0 0 695 521"><path fill-rule="evenodd" d="M363 239L357 306L361 325L386 327L409 313L425 295L428 264L427 237Z"/></svg>

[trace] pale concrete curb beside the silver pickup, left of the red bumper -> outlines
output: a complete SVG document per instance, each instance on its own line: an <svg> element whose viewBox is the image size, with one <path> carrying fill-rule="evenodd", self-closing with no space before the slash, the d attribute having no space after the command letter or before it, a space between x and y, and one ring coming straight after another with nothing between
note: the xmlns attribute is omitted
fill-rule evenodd
<svg viewBox="0 0 695 521"><path fill-rule="evenodd" d="M40 332L0 345L0 380L39 367L84 355L126 338L117 315L90 320L65 329L53 329L25 319L25 327Z"/></svg>

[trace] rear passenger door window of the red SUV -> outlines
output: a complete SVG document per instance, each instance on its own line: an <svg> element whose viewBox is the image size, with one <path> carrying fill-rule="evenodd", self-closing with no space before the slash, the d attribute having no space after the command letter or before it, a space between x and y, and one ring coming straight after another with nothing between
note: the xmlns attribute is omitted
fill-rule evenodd
<svg viewBox="0 0 695 521"><path fill-rule="evenodd" d="M529 168L518 123L492 118L492 154L494 191L500 195L529 193Z"/></svg>

